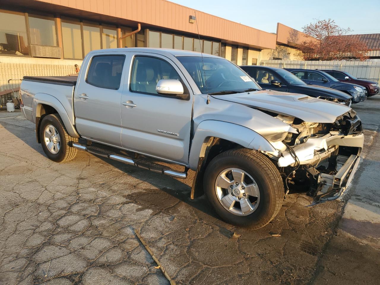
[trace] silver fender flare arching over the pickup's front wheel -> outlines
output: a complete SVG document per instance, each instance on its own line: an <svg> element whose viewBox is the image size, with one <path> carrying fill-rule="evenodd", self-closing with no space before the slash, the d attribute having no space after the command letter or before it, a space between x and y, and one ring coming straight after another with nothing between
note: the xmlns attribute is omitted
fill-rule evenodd
<svg viewBox="0 0 380 285"><path fill-rule="evenodd" d="M196 128L189 154L188 168L196 170L201 152L204 151L205 143L210 137L221 138L234 142L248 149L274 152L274 147L255 131L217 120L204 120Z"/></svg>

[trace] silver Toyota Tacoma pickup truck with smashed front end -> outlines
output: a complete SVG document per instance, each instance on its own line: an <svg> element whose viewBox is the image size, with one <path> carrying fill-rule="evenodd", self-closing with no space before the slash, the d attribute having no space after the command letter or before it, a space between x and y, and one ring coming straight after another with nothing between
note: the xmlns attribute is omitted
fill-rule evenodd
<svg viewBox="0 0 380 285"><path fill-rule="evenodd" d="M249 228L268 224L294 188L312 205L341 196L364 142L351 108L263 90L196 52L92 51L78 77L25 76L20 93L51 160L85 150L177 178L192 169L191 198L205 193L223 220Z"/></svg>

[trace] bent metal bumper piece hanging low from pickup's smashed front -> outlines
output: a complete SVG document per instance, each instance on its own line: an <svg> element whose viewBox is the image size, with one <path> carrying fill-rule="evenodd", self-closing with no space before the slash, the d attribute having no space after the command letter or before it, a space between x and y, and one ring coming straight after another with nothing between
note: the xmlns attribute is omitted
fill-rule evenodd
<svg viewBox="0 0 380 285"><path fill-rule="evenodd" d="M329 188L327 192L315 196L309 206L332 201L342 196L350 185L359 162L359 155L350 155L335 175L320 173L317 177L318 186L328 185Z"/></svg>

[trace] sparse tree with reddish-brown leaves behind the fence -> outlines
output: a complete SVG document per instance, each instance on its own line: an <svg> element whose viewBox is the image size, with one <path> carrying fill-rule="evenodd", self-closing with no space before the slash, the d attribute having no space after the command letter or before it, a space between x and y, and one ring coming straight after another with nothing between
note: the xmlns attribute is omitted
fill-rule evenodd
<svg viewBox="0 0 380 285"><path fill-rule="evenodd" d="M299 46L304 60L367 59L366 44L347 35L351 29L339 27L334 20L318 20L302 28L308 35Z"/></svg>

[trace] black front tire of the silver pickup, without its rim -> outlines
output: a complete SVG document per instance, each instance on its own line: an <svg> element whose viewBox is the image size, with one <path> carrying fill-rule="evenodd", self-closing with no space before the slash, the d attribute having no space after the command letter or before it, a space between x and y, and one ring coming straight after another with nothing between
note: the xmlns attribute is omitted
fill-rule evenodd
<svg viewBox="0 0 380 285"><path fill-rule="evenodd" d="M222 206L216 190L216 179L225 169L238 168L255 180L260 201L249 215L233 214ZM227 223L250 229L267 225L279 213L284 199L283 180L275 165L263 154L250 149L227 150L213 158L204 173L204 192L215 212Z"/></svg>

